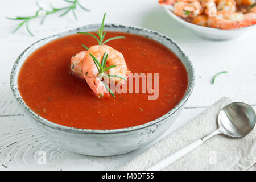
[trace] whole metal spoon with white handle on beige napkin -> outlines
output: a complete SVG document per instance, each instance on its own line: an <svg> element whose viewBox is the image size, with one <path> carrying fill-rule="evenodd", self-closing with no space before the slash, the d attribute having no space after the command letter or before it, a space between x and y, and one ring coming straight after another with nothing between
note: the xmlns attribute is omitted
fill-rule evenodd
<svg viewBox="0 0 256 182"><path fill-rule="evenodd" d="M163 159L159 163L155 164L155 166L148 168L147 171L161 170L169 166L214 135L224 134L228 135L229 137L244 137L254 129L255 123L256 115L250 105L243 102L233 102L226 105L218 114L218 129L216 131L213 131L205 137L196 140L195 142L189 144L189 146L184 147L171 156L168 156L166 159Z"/></svg>

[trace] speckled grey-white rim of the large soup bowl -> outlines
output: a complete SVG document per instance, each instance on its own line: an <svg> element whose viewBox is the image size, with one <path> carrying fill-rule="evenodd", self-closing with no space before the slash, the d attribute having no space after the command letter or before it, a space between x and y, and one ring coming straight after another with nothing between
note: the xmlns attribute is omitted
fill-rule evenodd
<svg viewBox="0 0 256 182"><path fill-rule="evenodd" d="M125 133L125 132L129 132L129 131L134 131L134 130L139 130L139 129L143 129L145 127L149 127L151 125L155 125L156 123L159 123L161 121L164 121L165 119L167 119L168 117L170 117L172 114L174 114L180 107L182 107L185 102L188 100L189 96L192 93L193 87L195 85L195 70L193 68L193 65L191 63L191 60L189 59L189 57L184 53L183 49L180 48L180 46L171 38L168 38L168 36L160 33L160 32L156 32L147 28L142 28L142 27L137 27L137 26L124 26L122 24L113 24L113 23L106 23L104 26L105 27L109 27L112 26L114 27L122 27L122 28L131 28L131 29L136 29L139 31L143 31L143 32L150 32L150 34L154 34L154 35L158 35L163 39L166 39L168 41L171 42L171 44L173 44L178 52L181 53L181 55L184 56L184 60L185 62L188 63L189 65L189 69L191 71L191 82L188 82L188 87L187 90L183 96L183 98L181 99L181 101L174 107L172 108L170 111L168 111L168 113L162 115L161 117L144 123L142 125L136 125L136 126L131 126L131 127L125 127L125 128L121 128L121 129L106 129L106 130L99 130L99 129L81 129L81 128L76 128L76 127L68 127L68 126L63 126L51 121L48 121L47 119L41 117L40 115L36 114L32 109L30 109L30 107L28 107L26 105L26 103L23 101L22 97L19 94L19 90L18 90L18 75L19 75L19 71L20 68L22 67L22 64L24 63L24 61L26 61L26 59L24 59L21 63L20 68L18 68L18 65L20 63L20 60L23 59L23 55L28 52L30 50L31 47L36 46L36 44L43 42L45 40L47 40L49 43L53 40L53 38L61 38L67 35L72 35L69 34L69 32L76 32L81 30L85 30L86 28L92 28L92 27L100 27L101 24L89 24L86 26L82 26L82 27L78 27L78 28L73 28L72 30L68 30L68 31L64 31L61 32L60 34L55 34L52 36L48 36L47 38L43 38L38 40L37 42L31 44L31 46L29 46L28 48L26 48L19 56L18 58L15 60L13 68L11 69L11 75L10 75L10 87L11 87L11 91L14 94L15 100L16 102L18 102L18 104L20 105L21 109L24 111L24 113L26 113L30 118L32 118L33 120L35 120L36 122L42 124L42 126L48 126L51 127L52 129L56 129L56 130L60 130L60 131L65 131L68 133L77 133L77 134L114 134L114 133ZM119 30L118 30L119 31ZM128 32L130 33L130 32ZM134 34L134 33L131 33ZM139 35L139 34L138 34ZM142 35L144 36L144 35ZM150 38L151 39L151 38ZM55 39L54 39L55 40ZM158 41L159 42L159 41ZM42 47L44 44L38 46L36 49ZM171 50L172 51L172 50ZM33 51L34 52L34 51ZM31 53L30 53L31 54ZM16 77L16 79L14 79ZM16 81L15 81L16 80Z"/></svg>

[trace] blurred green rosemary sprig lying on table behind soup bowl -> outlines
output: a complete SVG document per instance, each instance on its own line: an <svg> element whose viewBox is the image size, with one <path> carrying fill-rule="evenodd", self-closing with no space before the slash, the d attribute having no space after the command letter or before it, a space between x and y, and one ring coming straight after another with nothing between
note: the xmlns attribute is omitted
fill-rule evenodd
<svg viewBox="0 0 256 182"><path fill-rule="evenodd" d="M41 20L41 24L43 24L44 22L44 19L46 18L47 15L49 14L52 14L52 13L56 13L58 11L62 11L62 10L66 10L63 14L60 15L60 17L64 16L65 14L67 14L69 11L72 11L75 19L77 20L77 17L76 17L76 14L75 14L75 9L78 6L81 7L81 9L85 10L85 11L89 11L88 9L86 9L85 7L83 7L81 5L81 3L79 2L79 0L74 0L74 1L69 1L69 0L64 0L68 3L71 3L70 6L67 6L67 7L61 7L61 8L55 8L55 7L52 7L52 10L51 11L47 11L45 10L42 6L40 6L38 4L38 2L36 2L36 5L38 6L38 10L36 11L35 15L33 16L17 16L16 18L8 18L6 17L7 19L10 19L10 20L23 20L22 23L20 23L18 25L18 27L15 28L15 30L13 32L16 32L20 27L23 26L23 24L26 23L26 28L27 28L27 31L28 33L31 35L31 36L34 36L32 34L32 32L30 31L30 29L28 28L28 22L31 20L31 19L34 19L34 18L38 18L39 16L42 16L42 20Z"/></svg>

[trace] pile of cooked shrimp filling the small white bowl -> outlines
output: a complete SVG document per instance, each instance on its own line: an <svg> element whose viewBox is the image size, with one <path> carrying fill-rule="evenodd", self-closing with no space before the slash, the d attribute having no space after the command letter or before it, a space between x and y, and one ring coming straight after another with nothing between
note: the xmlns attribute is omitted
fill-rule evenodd
<svg viewBox="0 0 256 182"><path fill-rule="evenodd" d="M256 0L159 0L173 13L205 27L235 29L256 24Z"/></svg>

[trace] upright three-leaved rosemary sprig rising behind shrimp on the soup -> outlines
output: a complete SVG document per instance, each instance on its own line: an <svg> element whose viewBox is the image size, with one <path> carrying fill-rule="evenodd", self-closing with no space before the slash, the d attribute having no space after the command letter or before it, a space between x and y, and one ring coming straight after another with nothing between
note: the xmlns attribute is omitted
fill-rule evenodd
<svg viewBox="0 0 256 182"><path fill-rule="evenodd" d="M99 45L104 45L105 43L109 42L110 40L115 40L115 39L125 39L124 36L115 36L113 38L109 38L107 40L104 40L104 37L106 35L106 32L103 32L103 29L104 29L104 21L105 21L105 16L106 16L106 13L104 13L104 16L103 16L103 19L102 19L102 23L101 23L101 28L98 30L98 31L94 31L93 33L95 33L96 35L92 34L92 33L88 33L88 32L77 32L77 34L84 34L84 35L89 35L89 36L92 36L94 39L97 40L98 44Z"/></svg>

